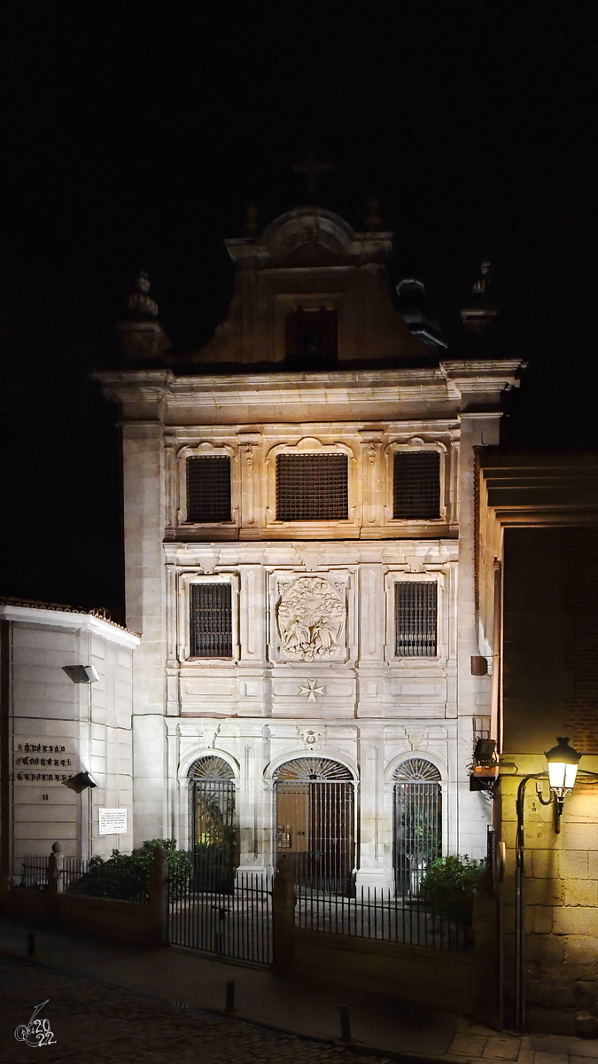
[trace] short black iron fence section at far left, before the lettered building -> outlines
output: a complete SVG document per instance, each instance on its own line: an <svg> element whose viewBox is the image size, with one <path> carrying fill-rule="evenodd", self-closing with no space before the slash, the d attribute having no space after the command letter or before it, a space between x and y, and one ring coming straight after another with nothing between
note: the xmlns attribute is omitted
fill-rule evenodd
<svg viewBox="0 0 598 1064"><path fill-rule="evenodd" d="M48 858L28 854L23 860L21 886L47 890ZM61 894L86 898L112 898L117 901L148 900L148 868L124 867L101 862L97 858L59 858L57 890Z"/></svg>

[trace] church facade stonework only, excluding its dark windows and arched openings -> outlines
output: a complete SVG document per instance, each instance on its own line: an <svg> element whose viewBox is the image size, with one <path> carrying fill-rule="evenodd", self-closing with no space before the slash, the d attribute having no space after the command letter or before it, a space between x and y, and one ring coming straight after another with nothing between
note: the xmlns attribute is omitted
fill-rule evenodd
<svg viewBox="0 0 598 1064"><path fill-rule="evenodd" d="M121 412L127 621L143 632L137 844L190 842L189 768L217 755L236 783L240 866L271 869L276 770L318 755L348 768L359 792L356 882L392 886L394 771L417 751L441 774L444 852L485 852L487 802L468 787L492 692L492 677L470 670L474 462L477 446L498 442L519 363L438 362L393 307L389 246L389 234L351 234L327 212L294 212L260 240L230 243L231 312L189 360L204 373L97 375ZM338 316L337 364L290 370L285 314L312 304ZM382 368L350 368L382 354ZM230 371L211 372L215 362ZM262 371L267 362L282 371ZM393 462L404 450L439 455L434 519L393 516ZM346 519L278 519L277 456L330 453L348 459ZM186 463L201 455L231 461L229 521L187 515ZM437 584L432 656L396 654L398 580ZM189 595L202 581L232 588L228 659L190 655Z"/></svg>

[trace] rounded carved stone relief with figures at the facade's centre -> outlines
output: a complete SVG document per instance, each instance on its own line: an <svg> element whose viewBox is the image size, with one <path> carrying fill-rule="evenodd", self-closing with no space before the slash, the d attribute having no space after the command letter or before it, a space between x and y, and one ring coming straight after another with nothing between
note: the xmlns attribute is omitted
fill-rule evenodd
<svg viewBox="0 0 598 1064"><path fill-rule="evenodd" d="M345 629L343 588L323 577L299 577L281 591L277 611L281 653L302 662L334 658Z"/></svg>

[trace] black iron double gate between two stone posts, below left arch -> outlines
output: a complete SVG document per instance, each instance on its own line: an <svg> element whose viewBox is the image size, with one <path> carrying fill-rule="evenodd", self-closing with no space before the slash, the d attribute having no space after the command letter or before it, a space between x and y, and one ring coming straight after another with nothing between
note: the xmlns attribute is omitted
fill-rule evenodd
<svg viewBox="0 0 598 1064"><path fill-rule="evenodd" d="M189 868L170 868L170 943L271 964L271 878L237 871L225 888L221 884L221 866L211 872L198 857Z"/></svg>

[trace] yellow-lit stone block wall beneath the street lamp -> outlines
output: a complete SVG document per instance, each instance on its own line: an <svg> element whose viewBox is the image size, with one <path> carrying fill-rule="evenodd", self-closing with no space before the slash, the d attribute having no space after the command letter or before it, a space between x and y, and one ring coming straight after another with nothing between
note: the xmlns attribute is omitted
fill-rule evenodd
<svg viewBox="0 0 598 1064"><path fill-rule="evenodd" d="M522 775L543 771L544 759L509 755L519 776L501 781L503 817L513 816ZM585 757L584 768L598 770L598 758ZM552 828L552 807L542 807L528 784L525 810L525 971L526 1016L530 1031L574 1034L580 1017L594 1017L598 1029L598 851L597 796L593 787L576 787L565 800L562 831ZM512 821L508 821L512 827ZM506 1021L513 1004L514 871L513 832L508 839L503 893Z"/></svg>

